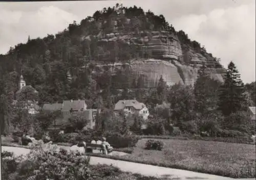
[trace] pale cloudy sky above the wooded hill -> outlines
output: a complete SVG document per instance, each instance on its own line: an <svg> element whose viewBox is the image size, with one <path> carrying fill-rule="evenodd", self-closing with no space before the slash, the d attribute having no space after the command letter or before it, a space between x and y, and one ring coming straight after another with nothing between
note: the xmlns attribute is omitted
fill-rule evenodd
<svg viewBox="0 0 256 180"><path fill-rule="evenodd" d="M255 81L255 0L0 2L0 54L26 43L28 36L56 34L116 3L164 15L176 30L220 58L225 68L233 61L244 83Z"/></svg>

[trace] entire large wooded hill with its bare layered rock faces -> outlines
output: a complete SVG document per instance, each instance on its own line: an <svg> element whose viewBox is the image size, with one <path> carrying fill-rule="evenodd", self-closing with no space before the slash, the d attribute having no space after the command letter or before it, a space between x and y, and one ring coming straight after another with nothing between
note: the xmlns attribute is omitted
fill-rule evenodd
<svg viewBox="0 0 256 180"><path fill-rule="evenodd" d="M223 82L225 69L217 59L163 15L117 4L56 35L11 47L0 55L0 79L9 78L15 93L23 74L41 101L55 102L92 98L101 90L107 97L115 89L156 87L161 76L168 85L193 85L203 64Z"/></svg>

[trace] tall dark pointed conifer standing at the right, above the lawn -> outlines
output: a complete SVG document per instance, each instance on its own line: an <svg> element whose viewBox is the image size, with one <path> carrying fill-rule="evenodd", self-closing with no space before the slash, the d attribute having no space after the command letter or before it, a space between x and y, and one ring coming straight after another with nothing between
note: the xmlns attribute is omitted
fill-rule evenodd
<svg viewBox="0 0 256 180"><path fill-rule="evenodd" d="M231 61L228 64L225 82L221 86L219 93L219 110L223 115L228 116L231 113L236 113L243 110L245 101L244 84L240 78L239 71Z"/></svg>

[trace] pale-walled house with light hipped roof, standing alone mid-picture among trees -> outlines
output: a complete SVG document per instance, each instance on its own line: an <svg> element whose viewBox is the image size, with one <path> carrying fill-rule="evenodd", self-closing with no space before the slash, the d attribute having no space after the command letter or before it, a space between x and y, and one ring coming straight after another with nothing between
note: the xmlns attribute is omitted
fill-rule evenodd
<svg viewBox="0 0 256 180"><path fill-rule="evenodd" d="M148 108L142 102L138 102L136 99L119 100L115 105L114 111L116 113L124 112L125 116L134 114L144 120L146 120L148 115L150 115Z"/></svg>

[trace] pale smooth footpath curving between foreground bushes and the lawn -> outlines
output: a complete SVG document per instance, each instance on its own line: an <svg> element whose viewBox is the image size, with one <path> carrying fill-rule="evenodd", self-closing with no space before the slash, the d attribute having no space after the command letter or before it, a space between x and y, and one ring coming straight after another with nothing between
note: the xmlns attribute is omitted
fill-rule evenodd
<svg viewBox="0 0 256 180"><path fill-rule="evenodd" d="M67 149L68 147L66 147ZM15 155L26 155L29 153L30 149L20 148L20 147L9 147L2 146L2 151L12 151ZM107 164L113 165L120 168L122 171L139 173L146 176L158 176L163 177L164 179L233 179L229 177L222 177L211 174L204 174L199 172L181 170L181 169L172 169L164 168L159 166L152 166L146 164L138 164L126 161L112 160L107 158L91 157L90 164ZM249 180L249 179L247 179Z"/></svg>

